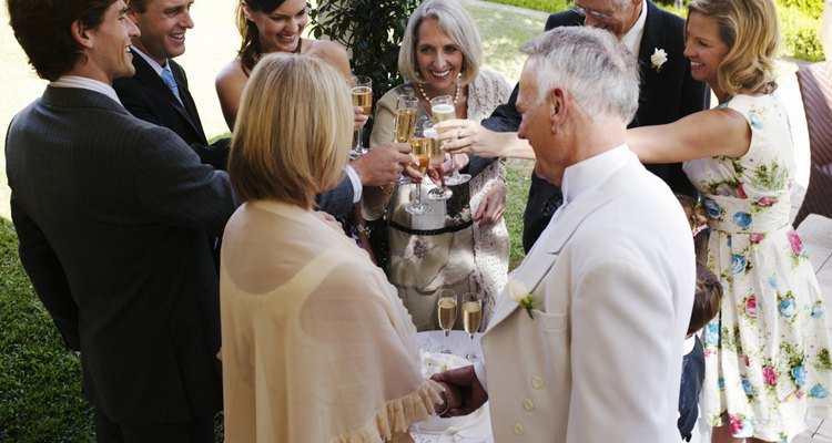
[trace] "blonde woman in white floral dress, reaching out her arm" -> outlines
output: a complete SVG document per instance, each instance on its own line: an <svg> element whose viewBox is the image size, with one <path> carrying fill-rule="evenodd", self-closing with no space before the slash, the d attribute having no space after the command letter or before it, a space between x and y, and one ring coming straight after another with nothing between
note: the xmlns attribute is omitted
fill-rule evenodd
<svg viewBox="0 0 832 443"><path fill-rule="evenodd" d="M704 328L703 416L714 442L788 442L832 418L830 340L818 280L789 222L794 153L772 72L771 0L693 0L684 55L721 103L640 127L643 162L687 162L708 209L708 266L726 295ZM699 159L696 159L699 158Z"/></svg>

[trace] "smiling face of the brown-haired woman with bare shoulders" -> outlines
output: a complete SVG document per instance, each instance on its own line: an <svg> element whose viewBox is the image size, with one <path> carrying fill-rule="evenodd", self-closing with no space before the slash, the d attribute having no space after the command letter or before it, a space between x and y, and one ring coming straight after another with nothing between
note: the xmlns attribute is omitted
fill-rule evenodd
<svg viewBox="0 0 832 443"><path fill-rule="evenodd" d="M272 12L252 11L242 2L246 20L254 22L265 53L294 52L308 22L305 0L286 0Z"/></svg>

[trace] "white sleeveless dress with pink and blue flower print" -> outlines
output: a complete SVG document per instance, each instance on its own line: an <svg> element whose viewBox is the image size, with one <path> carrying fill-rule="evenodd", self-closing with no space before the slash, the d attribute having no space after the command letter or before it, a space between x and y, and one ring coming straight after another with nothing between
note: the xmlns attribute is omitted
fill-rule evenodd
<svg viewBox="0 0 832 443"><path fill-rule="evenodd" d="M825 307L789 222L794 155L785 115L770 94L720 107L745 116L751 144L740 158L684 164L708 209L708 267L724 289L703 330L703 416L735 437L787 442L806 418L832 418Z"/></svg>

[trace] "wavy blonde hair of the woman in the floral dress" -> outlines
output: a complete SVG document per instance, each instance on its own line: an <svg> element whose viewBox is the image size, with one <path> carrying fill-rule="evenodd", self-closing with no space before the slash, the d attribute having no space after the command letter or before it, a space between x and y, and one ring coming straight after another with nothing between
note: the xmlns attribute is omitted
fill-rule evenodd
<svg viewBox="0 0 832 443"><path fill-rule="evenodd" d="M691 12L713 18L720 39L729 48L718 70L722 91L734 96L777 89L773 70L780 29L772 0L692 0L688 17Z"/></svg>

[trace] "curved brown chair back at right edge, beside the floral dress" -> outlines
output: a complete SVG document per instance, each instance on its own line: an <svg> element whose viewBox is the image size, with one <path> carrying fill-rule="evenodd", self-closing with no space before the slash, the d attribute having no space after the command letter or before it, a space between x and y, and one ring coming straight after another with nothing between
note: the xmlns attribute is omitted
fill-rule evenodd
<svg viewBox="0 0 832 443"><path fill-rule="evenodd" d="M832 218L832 62L801 68L797 75L806 113L811 167L795 227L809 214Z"/></svg>

